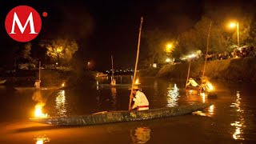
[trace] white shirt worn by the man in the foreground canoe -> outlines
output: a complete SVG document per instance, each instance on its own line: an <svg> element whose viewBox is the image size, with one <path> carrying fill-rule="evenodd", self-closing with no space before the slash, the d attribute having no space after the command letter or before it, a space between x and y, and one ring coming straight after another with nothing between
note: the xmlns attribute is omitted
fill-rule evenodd
<svg viewBox="0 0 256 144"><path fill-rule="evenodd" d="M139 106L149 106L150 103L146 98L146 95L143 94L141 91L137 91L135 98L133 99L134 106L132 109L139 107ZM149 107L139 107L138 110L149 110Z"/></svg>

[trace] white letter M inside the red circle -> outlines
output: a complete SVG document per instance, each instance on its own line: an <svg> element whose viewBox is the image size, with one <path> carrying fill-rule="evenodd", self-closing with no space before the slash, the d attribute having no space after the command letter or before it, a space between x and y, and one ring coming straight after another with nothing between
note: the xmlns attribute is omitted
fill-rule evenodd
<svg viewBox="0 0 256 144"><path fill-rule="evenodd" d="M32 16L32 12L30 12L29 17L26 19L26 23L25 26L22 26L22 23L19 21L17 14L14 12L14 20L13 20L13 26L11 28L11 32L10 34L16 34L14 32L14 27L15 27L15 23L17 23L18 25L18 29L21 30L22 34L24 33L24 30L26 29L26 25L28 24L28 22L30 22L30 34L38 34L34 31L34 21L33 21L33 16Z"/></svg>

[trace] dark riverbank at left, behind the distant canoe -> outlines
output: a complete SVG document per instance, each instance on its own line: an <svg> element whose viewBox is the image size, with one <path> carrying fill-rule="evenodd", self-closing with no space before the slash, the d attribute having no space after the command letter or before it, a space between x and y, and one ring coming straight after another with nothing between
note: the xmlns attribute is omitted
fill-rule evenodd
<svg viewBox="0 0 256 144"><path fill-rule="evenodd" d="M82 86L85 82L94 81L94 72L89 70L51 70L42 69L40 74L41 86L59 86L66 82L68 86ZM39 78L38 70L18 70L2 76L9 86L34 86Z"/></svg>

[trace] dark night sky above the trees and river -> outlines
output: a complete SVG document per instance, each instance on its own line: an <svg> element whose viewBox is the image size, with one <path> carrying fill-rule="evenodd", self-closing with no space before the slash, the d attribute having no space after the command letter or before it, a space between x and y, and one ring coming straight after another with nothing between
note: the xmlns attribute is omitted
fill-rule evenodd
<svg viewBox="0 0 256 144"><path fill-rule="evenodd" d="M140 18L143 30L159 28L174 36L189 30L209 9L225 6L254 5L254 1L202 1L202 0L91 0L91 1L10 1L0 3L1 64L10 61L12 47L21 42L12 40L5 30L6 14L15 6L31 6L42 17L42 30L37 43L47 38L74 38L84 61L93 60L96 70L110 69L110 55L114 55L117 69L134 68L138 44ZM143 47L143 39L142 46Z"/></svg>

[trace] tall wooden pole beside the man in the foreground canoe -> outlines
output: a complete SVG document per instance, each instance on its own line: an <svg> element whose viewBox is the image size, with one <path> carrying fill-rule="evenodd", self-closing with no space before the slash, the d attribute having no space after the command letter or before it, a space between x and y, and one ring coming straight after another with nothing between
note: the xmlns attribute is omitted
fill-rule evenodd
<svg viewBox="0 0 256 144"><path fill-rule="evenodd" d="M134 82L135 82L136 73L137 73L137 66L138 66L138 54L139 54L139 46L140 46L140 42L141 42L141 33L142 33L142 23L143 23L143 17L141 18L141 24L140 24L140 26L139 26L139 33L138 33L138 46L137 46L137 57L136 57L136 63L135 63L135 68L134 68L134 78L133 78L133 83L132 83L132 85L131 85L131 90L130 90L130 96L133 94ZM129 102L129 108L128 108L128 110L130 110L130 105L131 105L131 98L130 98L130 102Z"/></svg>

